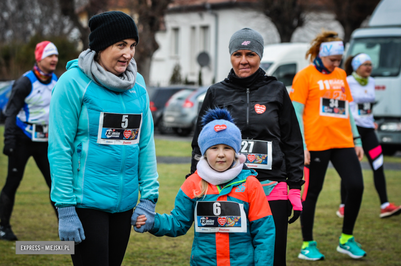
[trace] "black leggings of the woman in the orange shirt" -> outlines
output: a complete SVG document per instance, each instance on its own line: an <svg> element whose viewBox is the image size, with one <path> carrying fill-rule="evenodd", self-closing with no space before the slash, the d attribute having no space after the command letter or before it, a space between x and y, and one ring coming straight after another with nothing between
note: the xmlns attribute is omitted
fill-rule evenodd
<svg viewBox="0 0 401 266"><path fill-rule="evenodd" d="M329 161L344 182L347 198L345 199L342 233L352 235L363 194L362 169L354 148L311 151L309 178L306 180L301 213L302 237L304 241L313 240L313 222L316 202L323 187ZM306 189L307 186L307 189Z"/></svg>

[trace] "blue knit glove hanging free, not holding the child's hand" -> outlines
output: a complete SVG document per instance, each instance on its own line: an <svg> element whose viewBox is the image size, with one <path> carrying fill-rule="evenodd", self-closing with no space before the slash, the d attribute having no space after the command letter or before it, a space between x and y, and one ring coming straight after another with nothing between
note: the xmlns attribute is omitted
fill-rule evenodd
<svg viewBox="0 0 401 266"><path fill-rule="evenodd" d="M59 210L59 236L61 241L75 241L81 243L85 240L82 223L78 218L75 207L58 208Z"/></svg>

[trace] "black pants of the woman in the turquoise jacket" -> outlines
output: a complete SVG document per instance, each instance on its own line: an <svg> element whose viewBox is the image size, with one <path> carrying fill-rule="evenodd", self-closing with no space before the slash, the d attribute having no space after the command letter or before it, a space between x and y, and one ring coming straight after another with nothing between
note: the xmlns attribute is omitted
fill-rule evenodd
<svg viewBox="0 0 401 266"><path fill-rule="evenodd" d="M120 266L131 234L133 210L109 212L75 208L84 229L85 240L71 255L74 266Z"/></svg>

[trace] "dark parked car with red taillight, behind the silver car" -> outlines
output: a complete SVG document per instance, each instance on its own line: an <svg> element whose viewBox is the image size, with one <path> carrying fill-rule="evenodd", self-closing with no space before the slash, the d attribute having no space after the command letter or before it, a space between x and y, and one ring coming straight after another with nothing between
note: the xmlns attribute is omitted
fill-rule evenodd
<svg viewBox="0 0 401 266"><path fill-rule="evenodd" d="M187 88L188 86L168 86L168 87L147 87L150 99L150 110L152 112L153 123L155 129L158 129L161 134L172 132L172 129L166 127L163 123L163 110L166 102L175 93Z"/></svg>

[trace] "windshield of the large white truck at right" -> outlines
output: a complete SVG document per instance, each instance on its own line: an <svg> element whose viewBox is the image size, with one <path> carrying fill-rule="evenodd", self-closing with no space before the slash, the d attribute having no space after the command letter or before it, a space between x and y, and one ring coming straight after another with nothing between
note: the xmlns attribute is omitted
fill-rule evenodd
<svg viewBox="0 0 401 266"><path fill-rule="evenodd" d="M372 58L372 77L398 76L401 67L401 37L354 39L350 56L363 52Z"/></svg>

